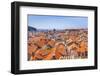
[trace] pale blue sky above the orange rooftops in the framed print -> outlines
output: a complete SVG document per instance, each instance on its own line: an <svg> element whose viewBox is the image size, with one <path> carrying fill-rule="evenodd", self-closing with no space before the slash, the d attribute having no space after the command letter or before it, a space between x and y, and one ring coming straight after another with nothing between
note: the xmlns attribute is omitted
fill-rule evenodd
<svg viewBox="0 0 100 76"><path fill-rule="evenodd" d="M79 29L88 27L88 17L28 15L28 26L37 29Z"/></svg>

